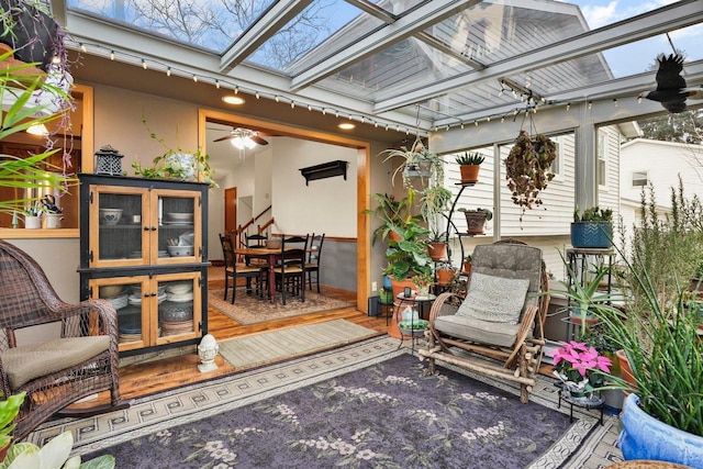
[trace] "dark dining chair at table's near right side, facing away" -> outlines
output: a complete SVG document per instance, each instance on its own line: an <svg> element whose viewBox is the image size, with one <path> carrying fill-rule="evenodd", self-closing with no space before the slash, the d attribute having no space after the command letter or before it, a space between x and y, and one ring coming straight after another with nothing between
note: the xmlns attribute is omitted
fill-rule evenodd
<svg viewBox="0 0 703 469"><path fill-rule="evenodd" d="M280 261L276 267L276 283L286 304L286 293L305 301L305 257L309 236L282 236Z"/></svg>

